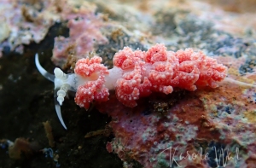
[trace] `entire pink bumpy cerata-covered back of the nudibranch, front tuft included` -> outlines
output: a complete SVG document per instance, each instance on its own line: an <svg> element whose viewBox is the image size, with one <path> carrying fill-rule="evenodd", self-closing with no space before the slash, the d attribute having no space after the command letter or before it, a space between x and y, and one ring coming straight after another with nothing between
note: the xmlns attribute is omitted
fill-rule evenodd
<svg viewBox="0 0 256 168"><path fill-rule="evenodd" d="M167 51L157 43L148 51L125 47L113 56L113 68L101 64L94 56L76 63L75 73L81 79L75 101L88 109L92 101L107 101L108 90L115 90L120 102L136 107L137 100L152 92L171 94L173 88L194 91L197 86L218 87L226 76L226 67L193 49Z"/></svg>

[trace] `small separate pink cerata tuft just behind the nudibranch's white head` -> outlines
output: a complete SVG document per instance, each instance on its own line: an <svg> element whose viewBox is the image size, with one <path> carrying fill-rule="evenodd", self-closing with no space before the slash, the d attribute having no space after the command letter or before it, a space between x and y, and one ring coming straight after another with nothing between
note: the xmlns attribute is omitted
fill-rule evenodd
<svg viewBox="0 0 256 168"><path fill-rule="evenodd" d="M101 64L102 58L94 56L89 59L77 61L74 72L82 78L84 84L80 84L75 101L80 107L88 109L92 101L108 101L108 88L104 87L105 76L108 68Z"/></svg>

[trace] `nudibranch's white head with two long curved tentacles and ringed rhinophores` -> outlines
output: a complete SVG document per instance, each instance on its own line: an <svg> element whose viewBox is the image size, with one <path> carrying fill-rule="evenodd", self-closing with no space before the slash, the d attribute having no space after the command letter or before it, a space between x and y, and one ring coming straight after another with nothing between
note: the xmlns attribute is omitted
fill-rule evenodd
<svg viewBox="0 0 256 168"><path fill-rule="evenodd" d="M74 74L66 74L62 72L61 69L57 67L54 71L55 75L50 74L44 69L44 67L40 65L38 54L35 55L35 63L38 71L44 76L44 78L47 78L51 82L55 83L55 111L61 121L61 125L67 130L67 126L65 125L61 116L61 105L64 101L64 97L67 95L67 90L76 91L76 77Z"/></svg>

